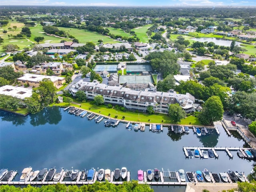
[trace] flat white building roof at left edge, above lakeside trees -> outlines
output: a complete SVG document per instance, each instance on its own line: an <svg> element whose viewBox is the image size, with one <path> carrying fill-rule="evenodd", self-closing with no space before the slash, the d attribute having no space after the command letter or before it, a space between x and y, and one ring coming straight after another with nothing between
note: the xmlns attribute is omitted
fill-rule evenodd
<svg viewBox="0 0 256 192"><path fill-rule="evenodd" d="M25 99L26 97L32 96L32 89L24 88L22 86L14 87L11 85L5 85L5 86L0 87L0 94L16 97L19 99Z"/></svg>

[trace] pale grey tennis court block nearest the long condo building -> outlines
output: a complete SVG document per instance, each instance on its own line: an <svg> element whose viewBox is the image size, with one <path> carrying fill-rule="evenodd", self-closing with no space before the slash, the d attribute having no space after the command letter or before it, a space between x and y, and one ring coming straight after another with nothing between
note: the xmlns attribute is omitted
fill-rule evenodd
<svg viewBox="0 0 256 192"><path fill-rule="evenodd" d="M119 83L153 83L151 75L121 75L119 76Z"/></svg>

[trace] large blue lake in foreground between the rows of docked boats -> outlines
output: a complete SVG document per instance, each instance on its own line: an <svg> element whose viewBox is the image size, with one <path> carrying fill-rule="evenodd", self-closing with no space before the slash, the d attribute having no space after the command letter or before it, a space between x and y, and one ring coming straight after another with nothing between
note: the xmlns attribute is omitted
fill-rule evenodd
<svg viewBox="0 0 256 192"><path fill-rule="evenodd" d="M208 136L174 134L167 128L161 134L126 130L126 124L104 127L104 120L80 118L64 112L63 108L46 108L38 114L19 116L0 111L0 168L18 170L32 166L34 170L51 167L82 170L84 168L127 167L131 179L137 179L138 170L169 169L177 171L204 170L227 172L228 169L249 174L252 163L238 158L232 152L229 159L218 151L219 159L186 159L182 147L243 147L245 142L234 132L231 137L219 127ZM20 176L16 177L19 180Z"/></svg>

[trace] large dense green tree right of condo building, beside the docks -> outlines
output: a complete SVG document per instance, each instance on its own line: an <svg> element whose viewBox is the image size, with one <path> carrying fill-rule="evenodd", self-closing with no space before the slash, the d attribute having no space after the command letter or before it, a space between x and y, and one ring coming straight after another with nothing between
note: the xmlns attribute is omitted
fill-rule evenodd
<svg viewBox="0 0 256 192"><path fill-rule="evenodd" d="M219 96L211 96L203 105L202 112L199 114L199 121L204 125L213 124L222 119L224 110Z"/></svg>

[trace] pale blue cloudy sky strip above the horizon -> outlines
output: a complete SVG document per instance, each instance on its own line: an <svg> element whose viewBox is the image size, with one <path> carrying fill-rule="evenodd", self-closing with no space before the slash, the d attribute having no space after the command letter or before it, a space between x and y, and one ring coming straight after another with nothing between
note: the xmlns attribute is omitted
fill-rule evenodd
<svg viewBox="0 0 256 192"><path fill-rule="evenodd" d="M39 6L256 6L255 0L0 0L0 5Z"/></svg>

